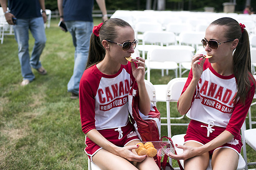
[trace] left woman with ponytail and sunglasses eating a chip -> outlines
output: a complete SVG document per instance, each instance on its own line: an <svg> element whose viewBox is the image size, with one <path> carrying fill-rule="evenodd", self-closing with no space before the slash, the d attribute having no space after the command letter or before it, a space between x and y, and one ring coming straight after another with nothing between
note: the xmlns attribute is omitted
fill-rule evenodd
<svg viewBox="0 0 256 170"><path fill-rule="evenodd" d="M128 93L135 80L139 109L144 115L150 112L145 61L126 60L136 44L134 30L122 19L108 19L93 28L79 101L85 152L102 170L159 169L152 157L136 154L140 140L128 117Z"/></svg>

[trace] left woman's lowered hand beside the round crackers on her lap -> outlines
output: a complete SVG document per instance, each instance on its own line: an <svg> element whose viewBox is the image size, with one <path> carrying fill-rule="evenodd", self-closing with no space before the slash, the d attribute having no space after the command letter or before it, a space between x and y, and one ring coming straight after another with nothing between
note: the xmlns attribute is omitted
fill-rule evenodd
<svg viewBox="0 0 256 170"><path fill-rule="evenodd" d="M121 151L118 152L118 156L125 158L129 161L142 162L146 159L147 155L139 156L132 152L133 149L138 148L137 145L125 146L121 148Z"/></svg>

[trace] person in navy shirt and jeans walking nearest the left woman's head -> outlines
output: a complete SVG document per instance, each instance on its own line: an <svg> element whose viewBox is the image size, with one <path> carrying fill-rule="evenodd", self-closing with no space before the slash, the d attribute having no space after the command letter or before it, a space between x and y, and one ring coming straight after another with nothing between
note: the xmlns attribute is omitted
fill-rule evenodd
<svg viewBox="0 0 256 170"><path fill-rule="evenodd" d="M79 97L79 82L88 60L90 36L92 34L92 8L94 0L58 0L60 22L66 24L75 46L73 75L67 85L71 99ZM105 0L96 0L102 11L102 21L108 19ZM60 27L65 31L62 27Z"/></svg>

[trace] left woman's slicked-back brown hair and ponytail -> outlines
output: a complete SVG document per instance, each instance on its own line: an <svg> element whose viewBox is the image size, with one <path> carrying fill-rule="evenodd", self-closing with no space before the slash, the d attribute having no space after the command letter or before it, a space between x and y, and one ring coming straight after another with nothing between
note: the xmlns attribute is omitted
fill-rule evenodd
<svg viewBox="0 0 256 170"><path fill-rule="evenodd" d="M86 64L86 69L91 67L94 64L101 62L105 55L106 51L102 45L102 40L108 39L113 41L115 38L118 37L117 35L117 27L131 27L128 22L125 22L119 18L111 18L103 22L100 30L99 36L97 37L92 33L90 39L90 47L89 47L89 55L88 61Z"/></svg>

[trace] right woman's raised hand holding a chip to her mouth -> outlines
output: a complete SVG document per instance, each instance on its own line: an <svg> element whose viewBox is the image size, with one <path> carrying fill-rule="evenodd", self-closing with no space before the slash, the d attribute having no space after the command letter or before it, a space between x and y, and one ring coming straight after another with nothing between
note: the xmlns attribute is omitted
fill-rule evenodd
<svg viewBox="0 0 256 170"><path fill-rule="evenodd" d="M197 54L194 55L191 62L191 68L193 72L193 78L199 80L202 73L203 73L203 63L206 60L206 58L202 58L203 55ZM202 58L202 60L199 60ZM200 63L200 64L198 64Z"/></svg>

